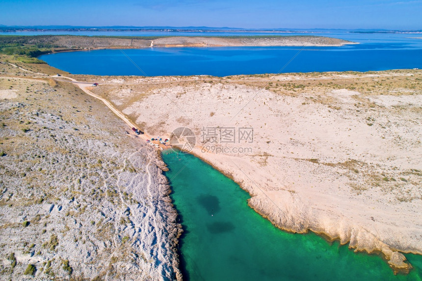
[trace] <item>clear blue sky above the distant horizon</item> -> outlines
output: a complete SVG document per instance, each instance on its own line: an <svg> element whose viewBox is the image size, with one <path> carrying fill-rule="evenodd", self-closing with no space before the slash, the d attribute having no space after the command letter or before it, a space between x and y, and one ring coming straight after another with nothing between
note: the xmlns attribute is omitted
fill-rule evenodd
<svg viewBox="0 0 422 281"><path fill-rule="evenodd" d="M0 25L422 29L422 0L0 0Z"/></svg>

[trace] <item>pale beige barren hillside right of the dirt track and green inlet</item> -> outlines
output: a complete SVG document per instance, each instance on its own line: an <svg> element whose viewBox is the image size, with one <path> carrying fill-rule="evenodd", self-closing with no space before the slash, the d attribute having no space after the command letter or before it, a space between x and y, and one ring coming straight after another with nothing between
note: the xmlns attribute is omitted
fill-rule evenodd
<svg viewBox="0 0 422 281"><path fill-rule="evenodd" d="M193 153L235 179L279 228L382 252L407 271L399 252L422 254L422 72L270 79L104 77L111 84L93 91L151 135L192 129ZM221 143L223 127L253 128L253 142ZM217 143L203 128L217 128Z"/></svg>

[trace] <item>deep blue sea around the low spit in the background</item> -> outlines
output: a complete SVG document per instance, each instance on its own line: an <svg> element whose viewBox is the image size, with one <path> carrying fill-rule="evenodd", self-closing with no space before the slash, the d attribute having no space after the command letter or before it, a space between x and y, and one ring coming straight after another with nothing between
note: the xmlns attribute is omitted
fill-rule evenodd
<svg viewBox="0 0 422 281"><path fill-rule="evenodd" d="M192 32L186 33L192 35ZM193 34L198 36L196 33ZM223 32L222 34L233 36L234 33ZM244 35L244 33L236 34ZM262 33L259 34L262 35ZM273 33L268 34L273 35ZM301 33L286 35L298 34ZM257 34L248 33L248 35ZM305 48L155 47L122 50L124 53L120 50L62 52L45 54L39 58L72 74L110 76L211 75L223 77L279 72L366 72L422 68L422 39L417 38L422 37L422 34L325 32L312 33L312 35L331 36L360 44Z"/></svg>

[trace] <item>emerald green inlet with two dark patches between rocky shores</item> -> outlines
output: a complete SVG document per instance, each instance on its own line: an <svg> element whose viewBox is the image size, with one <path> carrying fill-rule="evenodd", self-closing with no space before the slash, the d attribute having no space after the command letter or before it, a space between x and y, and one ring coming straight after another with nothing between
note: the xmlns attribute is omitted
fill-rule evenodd
<svg viewBox="0 0 422 281"><path fill-rule="evenodd" d="M395 276L377 255L275 228L247 205L245 191L199 158L172 151L162 158L185 230L187 280L422 280L422 256L406 255L415 269Z"/></svg>

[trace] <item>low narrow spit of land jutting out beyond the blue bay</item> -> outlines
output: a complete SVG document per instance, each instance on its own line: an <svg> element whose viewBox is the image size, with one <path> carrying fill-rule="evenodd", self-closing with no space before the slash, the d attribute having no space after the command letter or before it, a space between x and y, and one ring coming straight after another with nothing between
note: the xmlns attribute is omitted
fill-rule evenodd
<svg viewBox="0 0 422 281"><path fill-rule="evenodd" d="M47 46L46 52L77 51L87 49L137 49L148 47L269 47L269 46L320 46L338 47L359 44L338 38L294 36L83 36L83 35L0 35L0 42L8 44ZM46 50L47 49L47 50ZM60 50L62 49L62 50Z"/></svg>

